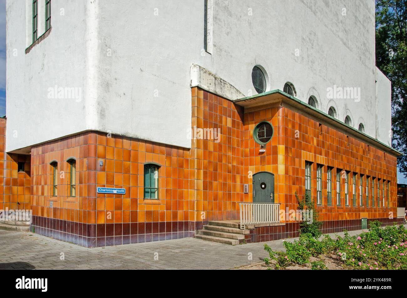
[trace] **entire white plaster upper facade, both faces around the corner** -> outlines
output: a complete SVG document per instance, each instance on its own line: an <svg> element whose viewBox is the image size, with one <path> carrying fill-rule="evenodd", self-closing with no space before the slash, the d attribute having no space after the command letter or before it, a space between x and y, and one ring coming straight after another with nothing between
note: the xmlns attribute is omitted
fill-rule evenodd
<svg viewBox="0 0 407 298"><path fill-rule="evenodd" d="M267 90L291 82L296 98L315 96L323 112L333 105L339 120L349 115L353 127L363 123L390 144L391 88L375 66L374 0L208 0L210 53L204 0L52 0L51 32L25 54L31 2L7 0L8 152L91 129L188 148L190 85L207 83L191 77L194 64L236 97L256 94L251 72L259 65ZM39 15L38 36L44 4ZM79 88L81 100L48 98L55 85ZM328 99L335 85L360 88L360 101Z"/></svg>

